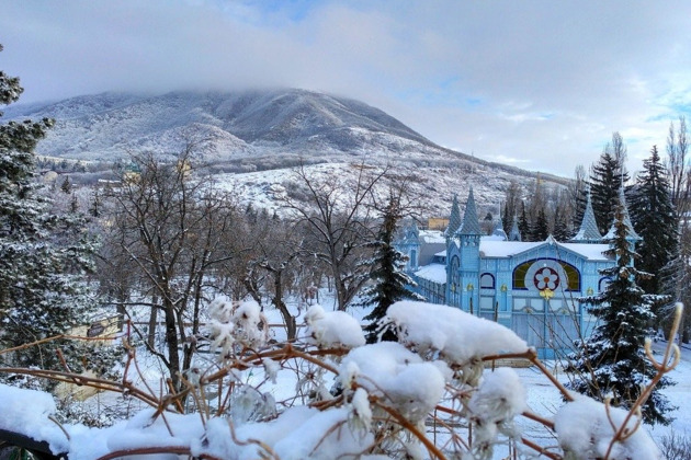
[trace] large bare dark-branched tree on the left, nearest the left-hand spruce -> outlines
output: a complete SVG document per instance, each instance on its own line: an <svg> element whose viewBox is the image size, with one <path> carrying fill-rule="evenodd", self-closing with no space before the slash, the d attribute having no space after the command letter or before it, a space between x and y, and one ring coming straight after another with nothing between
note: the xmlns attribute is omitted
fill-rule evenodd
<svg viewBox="0 0 691 460"><path fill-rule="evenodd" d="M191 156L191 147L172 163L135 156L138 172L123 171L122 184L110 194L117 251L152 286L151 298L158 300L135 304L163 313L167 354L149 350L163 361L177 390L180 372L195 353L205 295L218 289L213 268L233 256L224 248L235 223L234 205L211 180L194 175Z"/></svg>

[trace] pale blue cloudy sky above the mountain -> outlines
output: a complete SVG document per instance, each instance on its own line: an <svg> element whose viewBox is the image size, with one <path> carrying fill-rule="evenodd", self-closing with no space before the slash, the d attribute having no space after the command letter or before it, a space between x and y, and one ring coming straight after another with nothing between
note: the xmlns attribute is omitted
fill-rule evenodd
<svg viewBox="0 0 691 460"><path fill-rule="evenodd" d="M630 170L691 110L690 1L0 0L21 102L295 87L432 141L571 176L619 131Z"/></svg>

